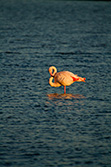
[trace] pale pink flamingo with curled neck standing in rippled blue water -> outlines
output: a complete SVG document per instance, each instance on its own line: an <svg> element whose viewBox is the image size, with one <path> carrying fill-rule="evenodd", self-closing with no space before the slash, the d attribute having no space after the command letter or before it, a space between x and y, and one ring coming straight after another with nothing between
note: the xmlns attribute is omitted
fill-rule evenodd
<svg viewBox="0 0 111 167"><path fill-rule="evenodd" d="M66 94L66 86L71 85L73 82L85 82L86 78L79 77L69 71L61 71L57 73L57 69L54 66L49 68L49 73L51 75L49 79L49 84L52 87L64 86L64 94ZM54 79L54 82L52 82Z"/></svg>

